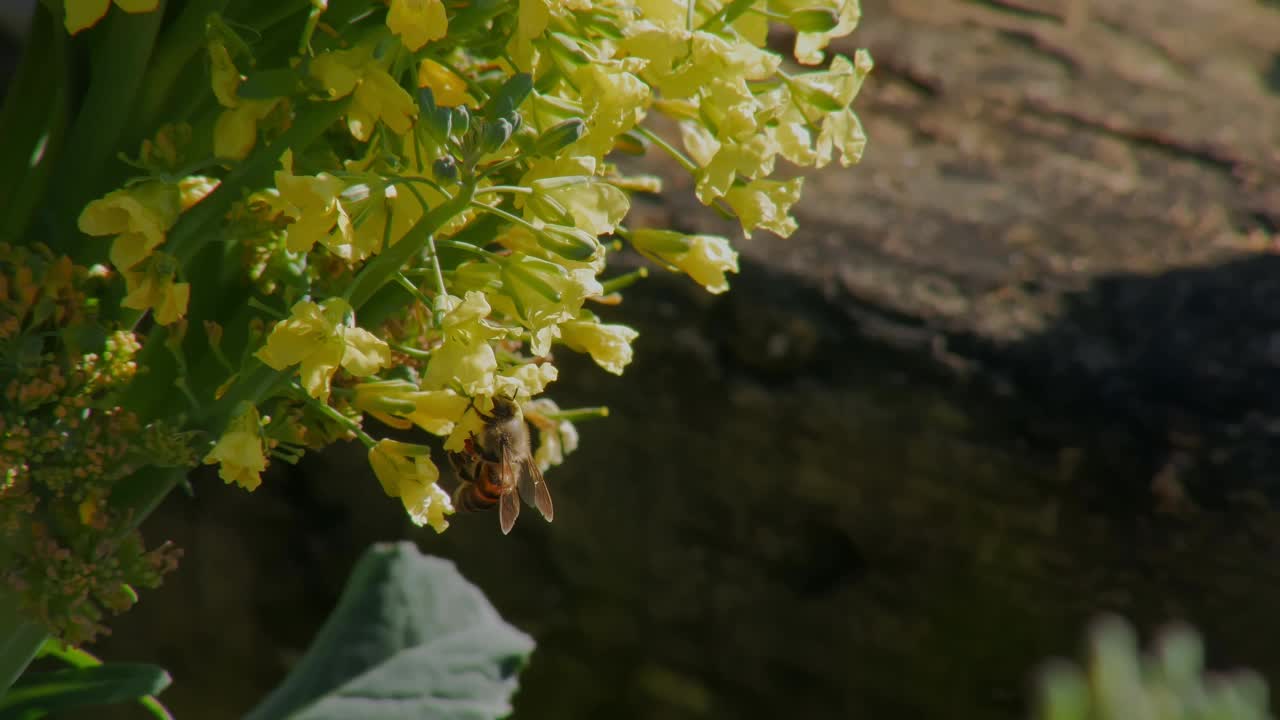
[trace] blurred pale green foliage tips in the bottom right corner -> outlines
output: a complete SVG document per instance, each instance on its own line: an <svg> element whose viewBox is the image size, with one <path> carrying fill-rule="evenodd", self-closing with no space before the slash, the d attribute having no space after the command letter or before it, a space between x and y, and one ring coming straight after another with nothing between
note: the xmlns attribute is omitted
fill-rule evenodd
<svg viewBox="0 0 1280 720"><path fill-rule="evenodd" d="M1166 630L1156 650L1138 651L1133 629L1107 618L1093 626L1088 665L1046 669L1039 720L1266 720L1266 682L1252 671L1204 671L1204 650L1190 628Z"/></svg>

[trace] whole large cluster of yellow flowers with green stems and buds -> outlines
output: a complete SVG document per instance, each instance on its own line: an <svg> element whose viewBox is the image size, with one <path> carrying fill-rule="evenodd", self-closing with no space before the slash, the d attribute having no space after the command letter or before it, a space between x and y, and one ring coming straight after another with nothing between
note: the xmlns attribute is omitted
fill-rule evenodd
<svg viewBox="0 0 1280 720"><path fill-rule="evenodd" d="M68 27L105 6L69 0ZM554 465L576 446L572 413L539 398L557 379L556 350L614 374L632 357L637 333L588 309L639 277L608 278L609 252L630 246L713 293L739 270L726 237L627 227L630 193L658 186L623 174L616 149L669 154L698 199L736 215L744 233L786 237L803 181L772 178L778 160L847 165L865 143L850 109L872 67L865 53L797 69L765 46L781 23L796 33L797 63L824 63L858 22L855 0L389 0L308 12L288 51L239 38L234 18L215 15L206 32L216 118L204 127L221 163L210 174L234 184L218 192L220 227L175 236L227 243L221 258L243 263L257 315L193 300L225 268L206 281L187 247L165 245L218 181L152 173L79 220L114 236L125 306L180 328L197 306L214 309L198 318L206 328L239 323L225 334L243 346L209 336L229 380L193 396L216 407L236 398L206 413L220 439L204 452L248 489L269 450L346 433L365 442L413 521L443 529L453 507L429 446L370 437L365 416L465 450L474 409L515 398L545 424L539 461ZM253 380L259 363L279 382ZM269 401L270 415L316 432L265 419Z"/></svg>

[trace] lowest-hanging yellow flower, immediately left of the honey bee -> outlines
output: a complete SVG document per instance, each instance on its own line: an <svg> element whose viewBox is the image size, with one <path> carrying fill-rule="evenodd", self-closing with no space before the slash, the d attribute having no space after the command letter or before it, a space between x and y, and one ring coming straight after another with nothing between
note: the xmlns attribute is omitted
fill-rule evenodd
<svg viewBox="0 0 1280 720"><path fill-rule="evenodd" d="M453 514L449 496L436 480L440 470L431 462L431 450L393 439L381 439L369 450L369 465L390 497L401 498L413 524L431 525L438 533L449 527Z"/></svg>

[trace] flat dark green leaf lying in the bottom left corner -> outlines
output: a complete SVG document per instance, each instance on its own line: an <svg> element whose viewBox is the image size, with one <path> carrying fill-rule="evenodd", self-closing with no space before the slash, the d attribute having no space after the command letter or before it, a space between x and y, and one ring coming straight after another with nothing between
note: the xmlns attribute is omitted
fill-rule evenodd
<svg viewBox="0 0 1280 720"><path fill-rule="evenodd" d="M0 698L0 717L38 717L41 712L127 702L156 694L169 682L163 669L133 662L27 673Z"/></svg>

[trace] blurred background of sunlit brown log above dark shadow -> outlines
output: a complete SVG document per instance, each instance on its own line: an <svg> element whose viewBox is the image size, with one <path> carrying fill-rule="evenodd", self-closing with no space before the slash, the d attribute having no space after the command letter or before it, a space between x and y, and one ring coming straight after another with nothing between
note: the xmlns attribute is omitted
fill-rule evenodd
<svg viewBox="0 0 1280 720"><path fill-rule="evenodd" d="M1280 3L863 9L863 164L728 295L605 309L625 378L557 357L552 396L613 414L554 524L413 530L356 447L202 473L145 527L180 570L96 650L234 716L412 537L538 639L517 719L1020 717L1101 611L1276 687ZM733 236L672 178L636 218Z"/></svg>

